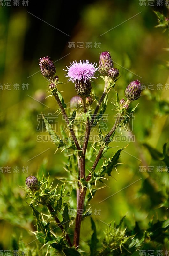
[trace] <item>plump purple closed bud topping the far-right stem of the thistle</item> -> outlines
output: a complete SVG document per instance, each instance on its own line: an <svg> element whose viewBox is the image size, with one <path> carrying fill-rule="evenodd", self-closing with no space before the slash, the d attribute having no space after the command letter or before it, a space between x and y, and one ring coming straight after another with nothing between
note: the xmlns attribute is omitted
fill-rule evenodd
<svg viewBox="0 0 169 256"><path fill-rule="evenodd" d="M141 95L141 83L139 80L132 81L125 90L125 96L128 100L137 100Z"/></svg>

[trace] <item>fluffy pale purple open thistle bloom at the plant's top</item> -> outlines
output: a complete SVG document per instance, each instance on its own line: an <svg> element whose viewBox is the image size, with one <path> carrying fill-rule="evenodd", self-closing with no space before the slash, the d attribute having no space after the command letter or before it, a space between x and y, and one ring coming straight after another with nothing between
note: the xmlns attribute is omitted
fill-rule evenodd
<svg viewBox="0 0 169 256"><path fill-rule="evenodd" d="M83 83L86 83L86 81L91 80L91 78L96 78L94 76L94 73L98 68L95 68L96 65L95 63L93 64L92 62L89 63L89 60L83 60L83 62L80 60L78 63L77 61L73 61L73 63L70 63L71 66L66 68L67 75L66 77L69 77L68 81L72 81L73 83L75 81L82 81Z"/></svg>

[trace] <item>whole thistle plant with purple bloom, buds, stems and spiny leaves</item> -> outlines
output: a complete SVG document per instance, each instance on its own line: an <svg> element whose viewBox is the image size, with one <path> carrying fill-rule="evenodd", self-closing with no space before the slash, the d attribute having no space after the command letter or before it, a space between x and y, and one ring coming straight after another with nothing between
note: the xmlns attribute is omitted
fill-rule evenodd
<svg viewBox="0 0 169 256"><path fill-rule="evenodd" d="M60 134L62 137L60 137L52 130L48 120L43 117L52 141L64 151L67 157L64 169L68 173L68 178L61 188L59 186L52 188L49 178L46 179L43 176L40 180L39 177L29 176L26 179L26 193L32 198L30 206L37 220L38 228L37 232L35 232L37 239L57 251L62 251L64 255L81 255L80 229L82 221L91 215L89 201L99 189L102 180L107 176L111 176L112 169L116 168L123 148L118 149L114 156L109 159L106 159L104 154L110 148L109 143L113 142L117 128L125 125L124 120L129 118L130 103L137 100L141 95L141 83L138 80L134 80L126 87L126 100L124 98L119 100L118 93L113 89L119 77L119 70L114 68L113 64L110 52L105 51L100 54L99 67L89 60L74 61L70 63L70 66L66 66L67 69L64 69L66 71L65 77L68 77L68 81L74 83L77 94L70 99L70 108L67 108L59 91L58 84L62 84L62 82L59 82L58 76L55 76L56 68L53 61L49 57L40 58L41 74L48 80L48 91L55 98L59 107L58 111L62 113L67 124L67 132L61 129ZM92 90L92 79L96 79L98 76L104 81L100 99ZM103 135L100 121L106 111L110 91L113 91L116 97L115 108L117 114L114 124L112 121L110 123L112 128L107 134ZM130 109L130 112L134 111L134 109ZM93 127L96 125L99 130L99 140L93 141L91 144L89 143L89 138ZM84 131L83 137L79 127ZM82 140L81 138L84 139ZM86 161L92 162L90 169L87 169ZM99 161L102 166L97 168ZM40 204L48 209L47 221L44 221L35 209ZM70 214L72 211L73 213ZM58 227L57 230L60 229L61 233L59 231L54 233L50 228L52 219L55 221L56 227ZM92 237L95 237L95 241L94 238L91 239L91 255L104 255L103 251L100 254L97 251L96 244L98 239L96 239L96 227L92 218L91 224ZM124 233L125 229L121 233L122 236L118 237L118 239L121 239L119 241L120 252L122 245L128 240ZM117 230L117 234L120 234L119 230ZM112 242L112 239L114 239L114 242ZM117 247L118 239L115 241L115 236L112 238L111 235L106 235L103 248L105 244L108 245L110 243L110 251L113 251ZM92 246L94 246L94 249ZM93 254L93 250L97 253Z"/></svg>

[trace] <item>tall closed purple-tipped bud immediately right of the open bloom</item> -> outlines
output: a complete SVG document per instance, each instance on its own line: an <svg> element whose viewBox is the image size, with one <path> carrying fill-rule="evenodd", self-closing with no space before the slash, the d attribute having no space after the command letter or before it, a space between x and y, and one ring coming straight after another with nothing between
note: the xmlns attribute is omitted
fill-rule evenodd
<svg viewBox="0 0 169 256"><path fill-rule="evenodd" d="M110 52L102 52L99 59L99 73L103 76L108 75L108 70L113 68L113 61Z"/></svg>

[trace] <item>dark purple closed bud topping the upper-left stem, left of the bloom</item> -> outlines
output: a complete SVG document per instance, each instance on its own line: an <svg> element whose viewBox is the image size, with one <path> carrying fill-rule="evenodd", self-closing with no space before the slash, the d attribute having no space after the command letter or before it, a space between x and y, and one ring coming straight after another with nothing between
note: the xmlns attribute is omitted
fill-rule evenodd
<svg viewBox="0 0 169 256"><path fill-rule="evenodd" d="M39 59L40 71L45 78L51 78L55 75L56 67L50 58L42 57Z"/></svg>

